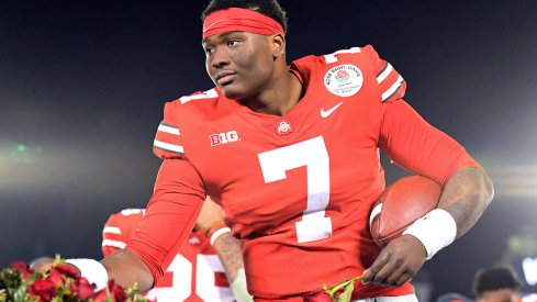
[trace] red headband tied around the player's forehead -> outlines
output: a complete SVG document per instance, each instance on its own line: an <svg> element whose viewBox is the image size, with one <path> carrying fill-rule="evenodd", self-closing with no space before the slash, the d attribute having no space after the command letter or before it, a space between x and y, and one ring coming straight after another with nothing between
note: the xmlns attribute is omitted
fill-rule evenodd
<svg viewBox="0 0 537 302"><path fill-rule="evenodd" d="M225 32L283 35L283 27L272 18L248 9L230 8L205 16L202 38Z"/></svg>

